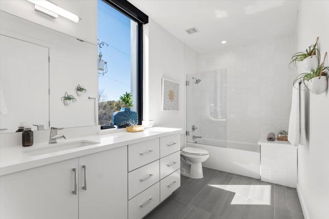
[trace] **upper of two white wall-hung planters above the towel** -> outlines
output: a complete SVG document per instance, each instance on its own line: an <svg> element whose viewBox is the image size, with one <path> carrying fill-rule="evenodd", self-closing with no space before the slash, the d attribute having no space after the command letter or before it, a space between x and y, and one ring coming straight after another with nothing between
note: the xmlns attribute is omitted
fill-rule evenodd
<svg viewBox="0 0 329 219"><path fill-rule="evenodd" d="M317 37L316 43L314 45L310 45L306 51L295 53L293 57L291 57L289 68L291 64L293 64L294 67L297 67L297 62L302 62L302 66L305 71L310 71L317 68L319 66L319 58L317 56L319 53L318 41L319 37Z"/></svg>

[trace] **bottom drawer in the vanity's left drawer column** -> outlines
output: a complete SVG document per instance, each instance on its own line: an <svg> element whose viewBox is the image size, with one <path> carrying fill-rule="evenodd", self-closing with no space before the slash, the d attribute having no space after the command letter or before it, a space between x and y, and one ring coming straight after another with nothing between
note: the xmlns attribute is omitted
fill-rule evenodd
<svg viewBox="0 0 329 219"><path fill-rule="evenodd" d="M160 183L153 185L128 201L128 218L140 219L160 203Z"/></svg>

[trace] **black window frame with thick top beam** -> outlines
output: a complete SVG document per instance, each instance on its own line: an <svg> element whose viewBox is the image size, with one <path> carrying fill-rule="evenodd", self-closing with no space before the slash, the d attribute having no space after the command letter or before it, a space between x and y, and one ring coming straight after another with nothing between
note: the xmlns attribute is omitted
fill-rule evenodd
<svg viewBox="0 0 329 219"><path fill-rule="evenodd" d="M138 125L143 120L143 25L149 16L126 0L102 0L137 23L137 114Z"/></svg>

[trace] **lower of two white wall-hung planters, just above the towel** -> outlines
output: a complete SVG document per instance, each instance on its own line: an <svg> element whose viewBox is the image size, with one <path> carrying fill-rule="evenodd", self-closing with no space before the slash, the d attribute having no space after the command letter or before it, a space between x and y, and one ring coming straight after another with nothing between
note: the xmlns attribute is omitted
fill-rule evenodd
<svg viewBox="0 0 329 219"><path fill-rule="evenodd" d="M323 62L316 69L310 70L310 72L299 74L295 80L294 85L297 82L303 82L305 87L313 94L321 94L326 91L328 86L328 66L323 66L327 52L324 55Z"/></svg>

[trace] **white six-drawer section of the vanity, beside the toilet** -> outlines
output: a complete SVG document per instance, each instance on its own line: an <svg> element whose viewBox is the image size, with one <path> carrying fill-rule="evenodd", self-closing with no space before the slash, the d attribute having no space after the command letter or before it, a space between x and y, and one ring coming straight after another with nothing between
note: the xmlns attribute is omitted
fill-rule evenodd
<svg viewBox="0 0 329 219"><path fill-rule="evenodd" d="M180 186L180 135L128 145L128 215L140 219Z"/></svg>

